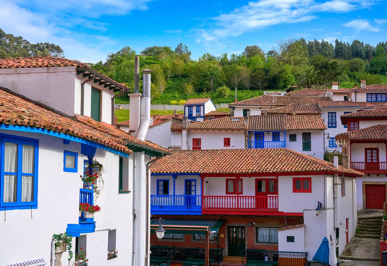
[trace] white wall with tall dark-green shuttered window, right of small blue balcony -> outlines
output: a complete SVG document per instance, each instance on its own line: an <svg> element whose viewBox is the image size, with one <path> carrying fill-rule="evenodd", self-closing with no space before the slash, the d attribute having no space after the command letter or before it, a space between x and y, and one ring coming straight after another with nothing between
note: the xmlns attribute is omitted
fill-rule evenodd
<svg viewBox="0 0 387 266"><path fill-rule="evenodd" d="M310 151L302 150L302 133L310 132ZM289 135L296 134L296 141L289 142ZM313 155L319 159L324 159L324 131L323 130L288 130L286 131L286 148L295 150L306 155ZM326 135L325 135L326 137ZM327 140L325 140L326 142Z"/></svg>

